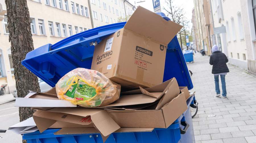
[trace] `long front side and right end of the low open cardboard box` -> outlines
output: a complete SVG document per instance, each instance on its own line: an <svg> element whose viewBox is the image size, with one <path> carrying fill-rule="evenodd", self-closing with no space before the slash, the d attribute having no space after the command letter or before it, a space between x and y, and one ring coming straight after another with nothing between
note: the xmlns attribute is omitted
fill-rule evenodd
<svg viewBox="0 0 256 143"><path fill-rule="evenodd" d="M184 93L159 110L107 110L120 127L167 128L187 110Z"/></svg>

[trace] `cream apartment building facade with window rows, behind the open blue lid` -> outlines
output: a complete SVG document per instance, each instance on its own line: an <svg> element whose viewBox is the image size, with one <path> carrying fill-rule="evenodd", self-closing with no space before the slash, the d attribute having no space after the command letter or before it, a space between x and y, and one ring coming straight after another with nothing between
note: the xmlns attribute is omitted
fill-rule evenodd
<svg viewBox="0 0 256 143"><path fill-rule="evenodd" d="M93 27L117 23L135 8L125 0L27 0L27 4L34 48ZM0 85L7 83L6 93L12 93L15 78L7 22L5 0L0 0Z"/></svg>

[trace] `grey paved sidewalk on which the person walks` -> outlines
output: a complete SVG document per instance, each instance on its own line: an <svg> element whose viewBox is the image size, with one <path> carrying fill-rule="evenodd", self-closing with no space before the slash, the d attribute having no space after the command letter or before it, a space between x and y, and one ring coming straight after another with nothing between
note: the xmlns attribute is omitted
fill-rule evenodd
<svg viewBox="0 0 256 143"><path fill-rule="evenodd" d="M193 118L196 143L256 143L256 77L228 64L227 98L215 97L209 57L197 53L194 61L187 66L199 102Z"/></svg>

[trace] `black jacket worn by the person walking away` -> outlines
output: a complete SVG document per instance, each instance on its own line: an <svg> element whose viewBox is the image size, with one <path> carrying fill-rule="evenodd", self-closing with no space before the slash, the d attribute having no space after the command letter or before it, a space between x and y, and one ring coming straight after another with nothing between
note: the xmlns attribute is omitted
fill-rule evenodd
<svg viewBox="0 0 256 143"><path fill-rule="evenodd" d="M215 51L210 56L210 65L212 65L212 73L227 73L229 72L227 63L227 56L221 51Z"/></svg>

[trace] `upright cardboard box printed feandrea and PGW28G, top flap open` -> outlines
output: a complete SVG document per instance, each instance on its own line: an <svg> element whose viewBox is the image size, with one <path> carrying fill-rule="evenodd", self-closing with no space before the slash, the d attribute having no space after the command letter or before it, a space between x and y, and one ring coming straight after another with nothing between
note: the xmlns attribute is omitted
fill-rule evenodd
<svg viewBox="0 0 256 143"><path fill-rule="evenodd" d="M166 46L181 27L139 6L123 29L95 46L91 69L126 89L160 84Z"/></svg>

